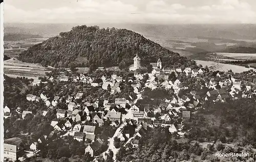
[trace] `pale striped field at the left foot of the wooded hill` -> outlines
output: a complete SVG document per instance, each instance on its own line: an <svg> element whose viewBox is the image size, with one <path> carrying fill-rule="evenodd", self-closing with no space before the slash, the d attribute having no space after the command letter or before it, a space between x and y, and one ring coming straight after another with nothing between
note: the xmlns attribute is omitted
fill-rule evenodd
<svg viewBox="0 0 256 162"><path fill-rule="evenodd" d="M46 72L50 72L50 69L39 64L26 63L14 58L4 61L4 74L9 77L36 79L46 76Z"/></svg>

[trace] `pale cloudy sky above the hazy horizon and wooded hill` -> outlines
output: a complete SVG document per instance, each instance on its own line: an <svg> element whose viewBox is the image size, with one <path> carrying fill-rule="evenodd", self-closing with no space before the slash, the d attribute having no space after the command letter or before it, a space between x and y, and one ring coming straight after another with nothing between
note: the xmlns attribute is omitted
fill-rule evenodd
<svg viewBox="0 0 256 162"><path fill-rule="evenodd" d="M6 0L4 22L256 24L256 1Z"/></svg>

